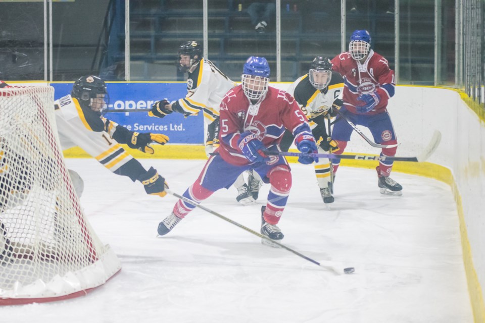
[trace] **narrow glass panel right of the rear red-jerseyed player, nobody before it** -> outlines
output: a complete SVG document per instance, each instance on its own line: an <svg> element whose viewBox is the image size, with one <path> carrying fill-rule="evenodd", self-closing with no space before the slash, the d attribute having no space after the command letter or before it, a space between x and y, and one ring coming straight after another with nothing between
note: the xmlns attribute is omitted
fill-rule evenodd
<svg viewBox="0 0 485 323"><path fill-rule="evenodd" d="M400 0L401 84L434 84L434 0Z"/></svg>

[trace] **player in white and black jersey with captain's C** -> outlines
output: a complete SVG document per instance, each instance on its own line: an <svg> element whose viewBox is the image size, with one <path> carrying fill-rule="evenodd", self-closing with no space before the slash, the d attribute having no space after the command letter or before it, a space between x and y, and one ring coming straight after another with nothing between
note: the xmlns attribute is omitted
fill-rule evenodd
<svg viewBox="0 0 485 323"><path fill-rule="evenodd" d="M326 57L318 56L311 63L308 74L298 78L289 86L287 92L292 94L302 111L310 121L312 133L318 143L319 153L336 151L337 143L327 132L325 122L336 115L335 110L342 107L342 89L344 81L338 73L332 74L332 64ZM286 131L281 140L281 149L288 151L293 136ZM315 164L320 194L324 203L332 203L332 175L330 160L320 158Z"/></svg>

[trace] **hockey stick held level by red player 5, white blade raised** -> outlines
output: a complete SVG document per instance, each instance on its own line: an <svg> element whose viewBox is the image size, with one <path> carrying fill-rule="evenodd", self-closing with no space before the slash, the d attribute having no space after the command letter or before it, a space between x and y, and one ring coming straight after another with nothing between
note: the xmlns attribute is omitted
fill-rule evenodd
<svg viewBox="0 0 485 323"><path fill-rule="evenodd" d="M434 131L433 137L424 150L415 157L390 157L390 156L368 156L364 154L353 155L337 155L333 153L303 153L303 152L283 152L283 151L268 151L265 154L273 156L294 156L294 157L318 157L318 158L342 158L342 159L357 159L357 160L394 160L394 161L418 161L422 162L429 158L429 156L436 150L441 141L441 132Z"/></svg>

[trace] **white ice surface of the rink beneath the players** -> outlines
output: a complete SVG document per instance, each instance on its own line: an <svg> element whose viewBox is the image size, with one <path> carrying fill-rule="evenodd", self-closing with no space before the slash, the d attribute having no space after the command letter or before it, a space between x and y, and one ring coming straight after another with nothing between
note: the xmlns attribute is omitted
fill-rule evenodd
<svg viewBox="0 0 485 323"><path fill-rule="evenodd" d="M205 163L140 161L179 194ZM86 217L122 270L84 297L2 307L0 322L473 322L456 205L442 182L393 173L404 194L385 196L375 170L342 167L327 207L313 167L291 164L282 242L324 264L355 267L334 276L199 208L157 238L176 198L148 196L94 159L67 164L84 179ZM268 190L242 206L231 187L204 206L259 232Z"/></svg>

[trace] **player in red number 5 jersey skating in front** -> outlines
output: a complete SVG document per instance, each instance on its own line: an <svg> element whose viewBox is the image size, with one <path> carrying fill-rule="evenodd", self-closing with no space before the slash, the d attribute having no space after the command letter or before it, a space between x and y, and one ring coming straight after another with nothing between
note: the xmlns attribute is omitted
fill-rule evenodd
<svg viewBox="0 0 485 323"><path fill-rule="evenodd" d="M183 196L200 203L215 191L229 188L239 174L254 170L271 184L267 204L261 209L261 233L281 240L283 234L277 224L292 187L292 175L283 156L268 156L265 151L281 151L279 143L285 129L293 132L300 151L317 152L317 146L293 96L269 86L269 72L263 57L252 56L246 61L242 84L227 92L220 105L218 154L209 158ZM299 158L302 164L314 161L318 158ZM178 200L172 213L160 222L158 234L170 232L195 207Z"/></svg>

